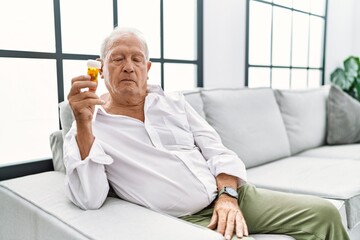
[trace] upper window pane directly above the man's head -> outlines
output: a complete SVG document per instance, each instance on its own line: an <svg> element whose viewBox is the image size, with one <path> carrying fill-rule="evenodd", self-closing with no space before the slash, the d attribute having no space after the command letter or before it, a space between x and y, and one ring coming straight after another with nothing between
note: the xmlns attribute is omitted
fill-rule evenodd
<svg viewBox="0 0 360 240"><path fill-rule="evenodd" d="M150 57L160 58L160 0L118 0L119 26L139 29Z"/></svg>

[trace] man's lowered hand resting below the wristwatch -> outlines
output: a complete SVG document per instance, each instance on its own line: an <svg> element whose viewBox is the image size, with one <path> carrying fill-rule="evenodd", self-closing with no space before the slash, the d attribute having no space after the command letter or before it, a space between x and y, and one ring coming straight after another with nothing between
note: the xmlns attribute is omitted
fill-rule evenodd
<svg viewBox="0 0 360 240"><path fill-rule="evenodd" d="M238 200L226 194L220 195L216 201L208 228L212 230L217 228L217 231L227 240L232 238L234 230L239 238L249 235Z"/></svg>

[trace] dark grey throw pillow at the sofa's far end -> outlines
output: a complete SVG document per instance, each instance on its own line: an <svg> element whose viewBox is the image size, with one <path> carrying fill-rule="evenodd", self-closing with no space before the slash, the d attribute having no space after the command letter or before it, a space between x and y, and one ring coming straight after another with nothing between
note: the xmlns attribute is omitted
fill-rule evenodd
<svg viewBox="0 0 360 240"><path fill-rule="evenodd" d="M328 98L328 144L360 142L360 102L331 86Z"/></svg>

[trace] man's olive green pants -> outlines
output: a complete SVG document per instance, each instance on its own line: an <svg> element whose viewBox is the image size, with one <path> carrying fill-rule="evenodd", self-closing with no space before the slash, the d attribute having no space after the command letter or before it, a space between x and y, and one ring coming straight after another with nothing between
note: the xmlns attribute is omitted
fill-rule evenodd
<svg viewBox="0 0 360 240"><path fill-rule="evenodd" d="M349 239L338 210L327 200L260 189L250 184L242 186L238 193L239 206L251 234L286 234L297 240ZM181 219L206 227L213 207ZM237 239L235 235L233 239Z"/></svg>

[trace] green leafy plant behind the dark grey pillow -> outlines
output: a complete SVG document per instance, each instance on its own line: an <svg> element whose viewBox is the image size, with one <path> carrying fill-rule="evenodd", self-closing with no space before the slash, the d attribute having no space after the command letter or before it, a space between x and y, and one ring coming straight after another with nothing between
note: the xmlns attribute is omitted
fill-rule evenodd
<svg viewBox="0 0 360 240"><path fill-rule="evenodd" d="M330 81L344 92L360 101L360 59L350 56L344 60L344 68L337 68L330 75Z"/></svg>

